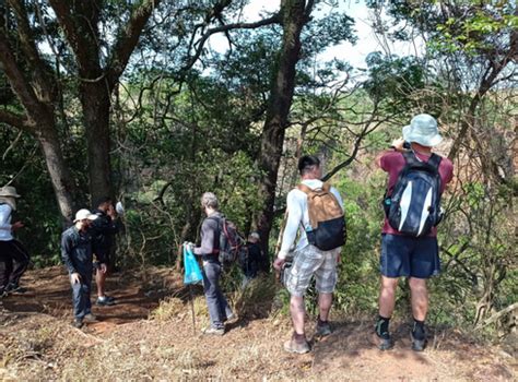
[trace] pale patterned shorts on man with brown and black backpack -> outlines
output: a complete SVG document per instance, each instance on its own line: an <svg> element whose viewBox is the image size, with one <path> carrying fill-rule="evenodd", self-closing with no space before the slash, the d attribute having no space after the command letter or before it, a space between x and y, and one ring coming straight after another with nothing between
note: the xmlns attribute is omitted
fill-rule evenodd
<svg viewBox="0 0 518 382"><path fill-rule="evenodd" d="M285 270L284 285L292 296L304 296L315 275L317 290L331 294L337 285L337 258L340 248L321 251L314 246L296 251L293 265Z"/></svg>

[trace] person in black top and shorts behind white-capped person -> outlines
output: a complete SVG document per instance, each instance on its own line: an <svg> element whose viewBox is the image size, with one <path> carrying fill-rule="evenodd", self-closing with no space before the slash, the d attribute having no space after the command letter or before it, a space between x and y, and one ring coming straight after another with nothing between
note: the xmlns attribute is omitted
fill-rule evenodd
<svg viewBox="0 0 518 382"><path fill-rule="evenodd" d="M115 212L114 204L110 198L102 198L97 202L97 208L94 211L97 215L92 224L92 234L94 236L94 254L96 258L95 262L95 283L97 284L97 305L98 306L113 306L115 299L105 294L105 284L107 268L113 267L114 264L110 262L110 253L115 243L115 235L117 234L119 226L117 224L117 213ZM106 261L106 270L103 272L99 267L99 259Z"/></svg>

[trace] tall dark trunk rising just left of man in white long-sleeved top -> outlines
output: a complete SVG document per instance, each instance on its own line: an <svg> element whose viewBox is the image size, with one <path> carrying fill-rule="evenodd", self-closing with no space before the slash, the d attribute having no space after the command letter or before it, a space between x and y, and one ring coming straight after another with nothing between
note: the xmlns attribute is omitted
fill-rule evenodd
<svg viewBox="0 0 518 382"><path fill-rule="evenodd" d="M295 87L295 67L301 52L301 31L308 21L306 2L302 0L282 1L281 13L284 28L283 43L279 53L276 75L271 85L259 154L259 165L263 171L259 196L263 199L263 205L256 222L262 238L261 246L264 253L268 253L278 171ZM270 256L267 255L267 259ZM269 264L267 265L269 266Z"/></svg>

